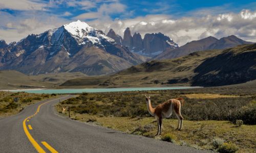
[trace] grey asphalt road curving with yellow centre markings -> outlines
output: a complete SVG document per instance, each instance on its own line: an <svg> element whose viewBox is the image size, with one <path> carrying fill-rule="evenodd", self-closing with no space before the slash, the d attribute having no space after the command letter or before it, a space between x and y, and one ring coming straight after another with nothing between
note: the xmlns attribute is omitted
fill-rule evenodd
<svg viewBox="0 0 256 153"><path fill-rule="evenodd" d="M58 116L58 102L43 100L0 119L0 152L205 152Z"/></svg>

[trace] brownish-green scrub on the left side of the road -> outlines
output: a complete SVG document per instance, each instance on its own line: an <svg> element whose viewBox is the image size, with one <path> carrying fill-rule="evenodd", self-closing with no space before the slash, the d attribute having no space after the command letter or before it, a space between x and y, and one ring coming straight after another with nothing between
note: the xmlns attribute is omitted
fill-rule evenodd
<svg viewBox="0 0 256 153"><path fill-rule="evenodd" d="M37 101L56 96L56 94L34 94L26 92L0 91L0 118L14 115L22 111L26 106ZM15 101L15 98L18 100Z"/></svg>

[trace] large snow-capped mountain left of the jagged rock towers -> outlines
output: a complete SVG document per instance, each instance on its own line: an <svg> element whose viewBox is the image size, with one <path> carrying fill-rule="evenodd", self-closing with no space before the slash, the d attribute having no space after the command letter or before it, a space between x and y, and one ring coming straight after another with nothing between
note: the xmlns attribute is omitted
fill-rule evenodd
<svg viewBox="0 0 256 153"><path fill-rule="evenodd" d="M0 69L27 74L80 71L113 73L147 58L131 53L101 30L77 20L7 45L0 42Z"/></svg>

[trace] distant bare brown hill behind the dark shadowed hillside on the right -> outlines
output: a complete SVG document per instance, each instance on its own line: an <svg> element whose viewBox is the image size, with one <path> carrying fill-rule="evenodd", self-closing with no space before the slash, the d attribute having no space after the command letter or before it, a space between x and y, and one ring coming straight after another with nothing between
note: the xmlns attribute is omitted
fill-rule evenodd
<svg viewBox="0 0 256 153"><path fill-rule="evenodd" d="M241 44L252 44L252 42L244 41L236 36L223 37L217 39L215 37L207 37L201 40L191 41L179 48L167 48L163 53L155 57L156 60L162 59L173 59L177 57L182 57L190 53L194 53L201 50L210 49L225 49L234 47Z"/></svg>

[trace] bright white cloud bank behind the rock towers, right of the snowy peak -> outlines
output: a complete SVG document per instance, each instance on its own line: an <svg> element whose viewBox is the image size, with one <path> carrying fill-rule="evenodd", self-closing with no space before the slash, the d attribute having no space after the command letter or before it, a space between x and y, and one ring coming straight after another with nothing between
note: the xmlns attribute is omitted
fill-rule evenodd
<svg viewBox="0 0 256 153"><path fill-rule="evenodd" d="M146 33L161 32L171 37L179 45L202 39L208 36L217 38L236 35L244 40L256 42L256 12L242 10L239 13L223 13L205 16L189 16L174 19L169 15L147 15L133 19L116 19L108 22L91 21L90 24L102 29L105 33L110 28L123 36L126 27L131 32Z"/></svg>

